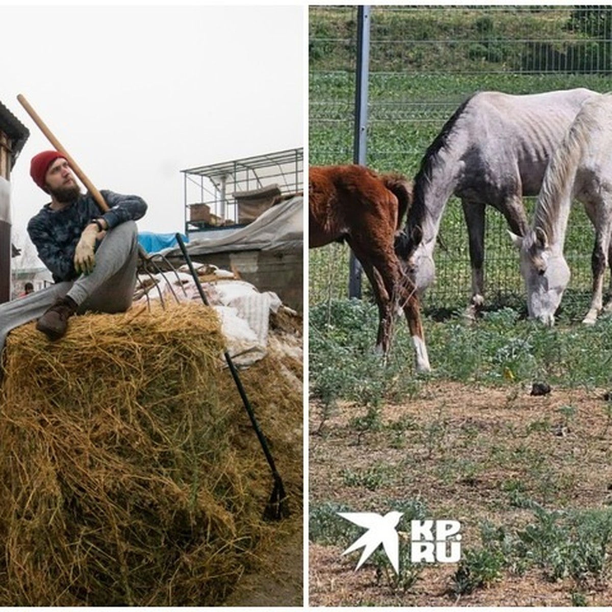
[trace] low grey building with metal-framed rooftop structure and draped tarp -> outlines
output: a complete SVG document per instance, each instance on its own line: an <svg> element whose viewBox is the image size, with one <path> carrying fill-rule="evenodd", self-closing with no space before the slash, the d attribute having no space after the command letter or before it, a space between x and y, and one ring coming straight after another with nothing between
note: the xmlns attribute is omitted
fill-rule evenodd
<svg viewBox="0 0 612 612"><path fill-rule="evenodd" d="M303 163L300 148L182 171L193 261L237 272L298 312L304 308Z"/></svg>

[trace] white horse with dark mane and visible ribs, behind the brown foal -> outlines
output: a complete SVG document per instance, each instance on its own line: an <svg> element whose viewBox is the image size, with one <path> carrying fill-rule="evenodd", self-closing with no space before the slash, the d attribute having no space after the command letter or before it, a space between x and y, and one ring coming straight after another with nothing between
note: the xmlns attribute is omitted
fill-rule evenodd
<svg viewBox="0 0 612 612"><path fill-rule="evenodd" d="M583 102L598 95L589 89L531 95L487 91L455 111L425 152L405 230L395 244L419 293L433 282L442 213L450 196L458 196L468 225L468 315L474 315L484 303L485 205L502 212L510 230L523 236L528 229L523 196L538 194L551 154Z"/></svg>

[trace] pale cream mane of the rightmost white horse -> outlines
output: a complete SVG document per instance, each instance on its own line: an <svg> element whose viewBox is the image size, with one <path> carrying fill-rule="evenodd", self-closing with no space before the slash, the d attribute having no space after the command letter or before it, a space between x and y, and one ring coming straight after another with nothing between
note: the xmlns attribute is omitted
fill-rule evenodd
<svg viewBox="0 0 612 612"><path fill-rule="evenodd" d="M550 242L559 238L556 221L562 212L567 212L563 207L571 205L573 179L584 147L597 125L593 113L588 112L589 106L585 103L551 157L537 198L533 227L542 228Z"/></svg>

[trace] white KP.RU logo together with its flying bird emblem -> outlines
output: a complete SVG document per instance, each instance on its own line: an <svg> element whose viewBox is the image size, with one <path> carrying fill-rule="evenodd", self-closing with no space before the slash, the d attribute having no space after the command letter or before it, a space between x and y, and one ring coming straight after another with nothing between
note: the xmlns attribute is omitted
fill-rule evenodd
<svg viewBox="0 0 612 612"><path fill-rule="evenodd" d="M364 551L357 563L358 570L381 544L395 573L400 573L399 535L397 524L401 512L338 512L351 523L365 527L361 535L342 554L359 548ZM412 563L457 563L461 559L461 523L449 520L410 521L410 561Z"/></svg>

